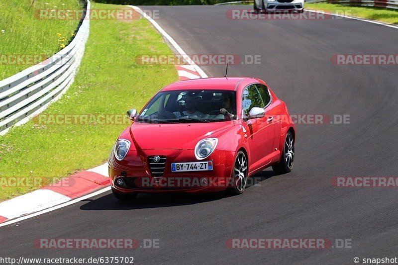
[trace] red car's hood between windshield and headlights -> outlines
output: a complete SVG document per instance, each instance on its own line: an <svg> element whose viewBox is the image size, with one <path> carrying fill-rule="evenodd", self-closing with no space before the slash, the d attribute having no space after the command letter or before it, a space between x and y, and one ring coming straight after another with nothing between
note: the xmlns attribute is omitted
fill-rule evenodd
<svg viewBox="0 0 398 265"><path fill-rule="evenodd" d="M217 137L234 126L233 121L209 123L137 123L130 127L130 149L194 149L206 138Z"/></svg>

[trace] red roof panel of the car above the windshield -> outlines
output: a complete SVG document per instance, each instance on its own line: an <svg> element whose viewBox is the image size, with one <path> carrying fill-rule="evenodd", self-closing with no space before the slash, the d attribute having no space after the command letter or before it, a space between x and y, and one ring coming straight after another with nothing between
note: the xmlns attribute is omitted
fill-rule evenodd
<svg viewBox="0 0 398 265"><path fill-rule="evenodd" d="M214 77L214 78L201 78L191 79L172 83L161 91L172 91L172 90L189 90L189 89L215 89L215 90L229 90L234 91L237 85L242 80L251 80L251 82L257 82L255 78L247 77Z"/></svg>

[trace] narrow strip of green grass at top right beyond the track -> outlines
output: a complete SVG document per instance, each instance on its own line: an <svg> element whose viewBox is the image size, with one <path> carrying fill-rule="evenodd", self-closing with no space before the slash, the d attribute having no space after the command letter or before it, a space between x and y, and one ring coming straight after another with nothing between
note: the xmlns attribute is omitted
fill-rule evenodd
<svg viewBox="0 0 398 265"><path fill-rule="evenodd" d="M398 10L378 7L347 6L332 3L305 3L305 9L325 10L331 13L363 17L390 24L398 24Z"/></svg>

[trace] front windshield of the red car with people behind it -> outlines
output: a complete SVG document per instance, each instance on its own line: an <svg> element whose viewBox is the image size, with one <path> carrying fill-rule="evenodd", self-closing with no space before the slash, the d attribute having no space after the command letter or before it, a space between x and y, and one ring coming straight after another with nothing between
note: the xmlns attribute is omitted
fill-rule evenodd
<svg viewBox="0 0 398 265"><path fill-rule="evenodd" d="M138 116L146 123L221 122L236 119L235 91L175 90L157 93Z"/></svg>

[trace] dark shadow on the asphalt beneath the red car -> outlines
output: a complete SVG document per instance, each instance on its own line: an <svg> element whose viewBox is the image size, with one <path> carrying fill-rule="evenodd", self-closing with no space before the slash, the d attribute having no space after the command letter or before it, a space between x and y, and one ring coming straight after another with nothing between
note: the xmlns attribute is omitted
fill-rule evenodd
<svg viewBox="0 0 398 265"><path fill-rule="evenodd" d="M247 189L259 185L262 181L276 176L271 171L262 171L249 177ZM209 201L216 201L223 198L233 197L225 191L214 193L140 193L131 201L117 200L113 194L107 194L97 199L85 199L87 203L80 206L84 211L100 210L134 210L146 208L161 208L171 206L192 205Z"/></svg>

